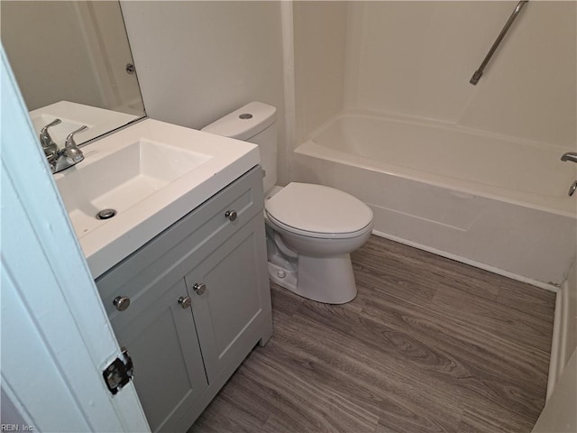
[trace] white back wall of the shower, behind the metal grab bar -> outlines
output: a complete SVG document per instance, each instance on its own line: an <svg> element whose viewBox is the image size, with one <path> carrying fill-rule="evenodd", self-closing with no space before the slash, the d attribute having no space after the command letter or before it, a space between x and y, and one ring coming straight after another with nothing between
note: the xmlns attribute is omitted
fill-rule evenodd
<svg viewBox="0 0 577 433"><path fill-rule="evenodd" d="M351 2L345 107L575 147L575 2L529 2L477 86L513 2Z"/></svg>

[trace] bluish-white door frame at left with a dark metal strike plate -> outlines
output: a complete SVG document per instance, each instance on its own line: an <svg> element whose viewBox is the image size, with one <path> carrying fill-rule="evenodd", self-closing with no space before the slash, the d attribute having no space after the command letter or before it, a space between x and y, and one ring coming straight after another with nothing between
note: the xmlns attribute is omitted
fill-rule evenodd
<svg viewBox="0 0 577 433"><path fill-rule="evenodd" d="M105 387L118 343L0 54L2 395L35 431L150 431L133 383Z"/></svg>

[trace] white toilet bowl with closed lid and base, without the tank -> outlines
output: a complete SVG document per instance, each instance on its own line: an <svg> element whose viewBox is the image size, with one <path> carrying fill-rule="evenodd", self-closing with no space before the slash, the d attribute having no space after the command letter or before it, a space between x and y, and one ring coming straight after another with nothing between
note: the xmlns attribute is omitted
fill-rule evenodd
<svg viewBox="0 0 577 433"><path fill-rule="evenodd" d="M265 200L270 280L342 304L357 293L351 255L371 235L372 211L338 189L292 182Z"/></svg>

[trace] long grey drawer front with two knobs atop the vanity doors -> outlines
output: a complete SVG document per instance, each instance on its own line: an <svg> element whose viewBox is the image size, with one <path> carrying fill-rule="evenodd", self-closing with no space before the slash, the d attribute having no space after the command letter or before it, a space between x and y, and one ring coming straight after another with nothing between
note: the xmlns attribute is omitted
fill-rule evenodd
<svg viewBox="0 0 577 433"><path fill-rule="evenodd" d="M96 279L109 318L122 314L114 307L117 296L130 298L132 308L156 282L175 284L262 208L262 171L257 166ZM234 221L227 211L236 212ZM158 291L152 296L162 296Z"/></svg>

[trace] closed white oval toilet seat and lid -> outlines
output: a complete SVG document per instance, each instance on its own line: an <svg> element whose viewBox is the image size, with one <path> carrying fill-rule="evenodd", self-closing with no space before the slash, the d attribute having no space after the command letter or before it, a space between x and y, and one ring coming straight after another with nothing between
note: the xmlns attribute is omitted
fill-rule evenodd
<svg viewBox="0 0 577 433"><path fill-rule="evenodd" d="M270 222L293 233L319 238L362 235L371 208L339 189L291 182L265 203Z"/></svg>

